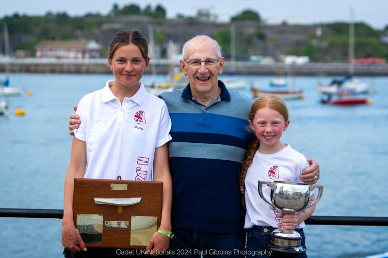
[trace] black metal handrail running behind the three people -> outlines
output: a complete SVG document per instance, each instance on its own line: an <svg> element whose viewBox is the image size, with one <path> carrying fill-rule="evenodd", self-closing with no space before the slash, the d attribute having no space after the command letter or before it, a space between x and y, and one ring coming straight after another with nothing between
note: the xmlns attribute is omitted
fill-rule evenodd
<svg viewBox="0 0 388 258"><path fill-rule="evenodd" d="M62 219L64 210L0 208L0 217ZM388 217L311 216L309 225L388 226Z"/></svg>

